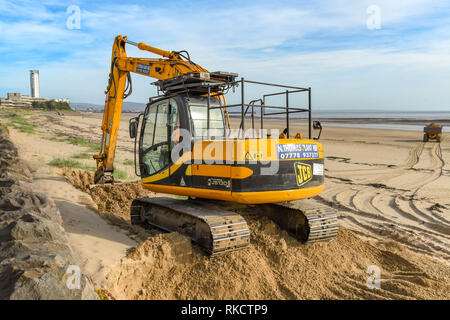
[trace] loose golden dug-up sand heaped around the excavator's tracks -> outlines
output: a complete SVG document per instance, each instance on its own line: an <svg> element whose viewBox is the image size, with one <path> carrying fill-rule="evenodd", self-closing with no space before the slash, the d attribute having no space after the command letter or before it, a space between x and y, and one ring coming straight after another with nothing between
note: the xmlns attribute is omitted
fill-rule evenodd
<svg viewBox="0 0 450 320"><path fill-rule="evenodd" d="M66 171L65 176L87 190L92 176L84 180L86 174ZM138 183L88 191L100 211L122 221L131 201L146 193ZM305 246L253 214L255 207L236 208L251 230L248 249L210 259L177 233L148 232L111 268L105 289L128 299L448 298L450 270L393 242L371 244L341 227L335 241ZM366 286L370 265L381 269L381 289Z"/></svg>

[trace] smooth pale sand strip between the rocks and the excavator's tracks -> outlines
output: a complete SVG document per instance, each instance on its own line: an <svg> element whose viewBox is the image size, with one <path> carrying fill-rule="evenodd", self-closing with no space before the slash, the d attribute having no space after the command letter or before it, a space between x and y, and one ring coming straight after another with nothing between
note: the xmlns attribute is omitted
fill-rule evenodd
<svg viewBox="0 0 450 320"><path fill-rule="evenodd" d="M124 230L102 219L93 200L63 177L39 175L30 185L55 201L81 269L97 287L104 286L109 266L137 242Z"/></svg>

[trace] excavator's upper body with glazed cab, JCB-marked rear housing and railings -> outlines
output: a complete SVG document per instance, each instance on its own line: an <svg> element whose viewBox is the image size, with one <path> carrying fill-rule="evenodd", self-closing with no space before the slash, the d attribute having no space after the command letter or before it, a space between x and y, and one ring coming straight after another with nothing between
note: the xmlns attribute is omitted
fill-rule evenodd
<svg viewBox="0 0 450 320"><path fill-rule="evenodd" d="M309 139L300 134L290 137L295 120L289 115L310 115L310 108L267 105L265 101L272 93L250 103L226 106L217 95L223 86L239 85L242 95L244 86L253 83L234 78L205 80L191 75L188 80L157 83L164 88L164 95L151 98L145 112L130 121L131 136L136 136L136 124L142 118L135 149L139 168L136 173L143 186L154 192L246 204L291 201L318 194L324 181L323 148L311 137L311 129L320 125L313 126L309 118ZM310 95L310 89L287 88L275 95L286 96L287 102L294 93ZM233 114L230 121L227 110L233 106L240 112L239 116ZM255 111L257 108L260 112ZM282 134L260 130L264 129L264 120L273 115L286 117ZM246 128L246 123L251 127Z"/></svg>

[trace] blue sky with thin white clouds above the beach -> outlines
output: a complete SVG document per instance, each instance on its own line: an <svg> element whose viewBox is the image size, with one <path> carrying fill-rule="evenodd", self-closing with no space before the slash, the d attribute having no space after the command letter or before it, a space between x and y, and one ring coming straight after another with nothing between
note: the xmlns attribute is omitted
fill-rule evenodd
<svg viewBox="0 0 450 320"><path fill-rule="evenodd" d="M41 96L103 104L119 34L210 71L311 87L319 110L450 110L450 1L437 0L0 0L0 97L29 94L38 69ZM155 95L153 79L132 78L128 101Z"/></svg>

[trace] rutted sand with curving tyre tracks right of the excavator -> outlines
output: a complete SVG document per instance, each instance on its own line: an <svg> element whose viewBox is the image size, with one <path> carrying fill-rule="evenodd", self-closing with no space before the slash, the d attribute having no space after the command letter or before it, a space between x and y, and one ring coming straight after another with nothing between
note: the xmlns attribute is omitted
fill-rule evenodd
<svg viewBox="0 0 450 320"><path fill-rule="evenodd" d="M424 166L423 163L427 161L429 164ZM422 166L417 168L419 163ZM430 146L419 142L411 148L408 158L399 166L360 170L360 175L366 171L371 171L371 174L375 170L377 172L376 176L371 175L358 183L351 179L353 172L349 170L345 170L347 175L344 178L328 175L331 186L318 198L344 211L342 218L355 229L373 234L374 238L389 234L395 241L413 251L428 255L440 253L448 258L449 221L443 215L421 209L416 204L419 200L427 201L419 199L418 193L443 175L444 166L439 143ZM358 174L356 171L354 173ZM404 175L408 178L402 178ZM398 178L401 179L400 184L394 184L395 187L387 185L389 181Z"/></svg>

